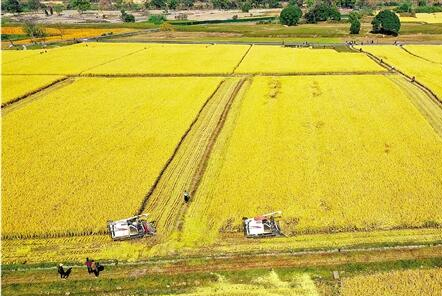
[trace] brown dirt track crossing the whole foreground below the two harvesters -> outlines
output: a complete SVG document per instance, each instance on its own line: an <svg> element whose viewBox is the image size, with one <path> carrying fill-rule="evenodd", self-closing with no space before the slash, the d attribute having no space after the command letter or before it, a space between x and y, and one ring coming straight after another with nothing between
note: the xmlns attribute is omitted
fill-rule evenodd
<svg viewBox="0 0 442 296"><path fill-rule="evenodd" d="M355 250L342 252L317 252L312 254L269 254L267 256L231 256L176 261L153 261L137 265L108 266L101 279L141 278L153 274L207 273L239 271L262 268L312 268L344 264L388 262L398 260L431 259L442 257L442 246L422 248L393 248L384 250ZM59 282L56 267L51 269L9 270L2 274L2 285ZM69 279L96 281L87 274L84 266L76 266Z"/></svg>

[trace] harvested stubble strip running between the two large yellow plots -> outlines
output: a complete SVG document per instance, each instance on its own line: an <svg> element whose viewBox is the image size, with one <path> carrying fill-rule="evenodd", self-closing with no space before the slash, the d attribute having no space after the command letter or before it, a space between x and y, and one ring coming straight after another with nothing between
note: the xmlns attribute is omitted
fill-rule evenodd
<svg viewBox="0 0 442 296"><path fill-rule="evenodd" d="M192 196L198 187L213 143L243 83L241 78L224 80L179 145L156 186L146 195L139 212L150 213L156 221L156 240L178 230L188 207L183 192L187 190Z"/></svg>

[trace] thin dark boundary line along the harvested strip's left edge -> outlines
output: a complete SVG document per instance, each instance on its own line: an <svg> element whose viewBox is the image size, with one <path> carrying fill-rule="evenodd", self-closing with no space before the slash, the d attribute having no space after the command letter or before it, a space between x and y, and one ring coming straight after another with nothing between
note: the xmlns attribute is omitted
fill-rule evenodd
<svg viewBox="0 0 442 296"><path fill-rule="evenodd" d="M190 131L192 130L193 126L196 124L196 122L198 121L198 118L200 117L201 113L203 112L204 108L207 106L207 104L211 101L211 99L215 96L216 92L220 89L220 87L225 83L225 79L221 80L221 82L218 84L218 86L215 88L215 90L211 93L211 95L207 98L207 100L204 102L203 106L200 108L200 110L198 111L197 115L195 116L195 118L193 119L192 123L190 124L190 126L187 128L187 130L184 132L184 134L181 136L181 139L178 141L178 144L175 146L175 149L173 150L172 154L170 155L170 157L167 159L166 163L164 164L163 168L161 169L160 173L158 174L157 178L155 179L154 183L152 184L152 186L150 187L149 191L146 193L146 195L144 196L140 207L138 208L136 214L140 215L143 213L144 209L146 208L147 202L150 198L150 196L152 195L152 193L154 192L154 190L156 189L158 183L160 182L162 176L164 175L164 172L166 171L166 169L169 167L170 163L172 162L172 160L175 158L175 156L178 153L178 150L180 149L182 143L184 142L184 140L186 139L187 135L190 133Z"/></svg>

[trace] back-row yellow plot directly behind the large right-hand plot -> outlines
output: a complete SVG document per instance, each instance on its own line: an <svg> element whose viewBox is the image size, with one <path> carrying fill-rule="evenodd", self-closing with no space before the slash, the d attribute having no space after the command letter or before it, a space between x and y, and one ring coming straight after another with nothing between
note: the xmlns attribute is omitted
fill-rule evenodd
<svg viewBox="0 0 442 296"><path fill-rule="evenodd" d="M315 73L385 71L359 53L331 49L253 46L236 73Z"/></svg>

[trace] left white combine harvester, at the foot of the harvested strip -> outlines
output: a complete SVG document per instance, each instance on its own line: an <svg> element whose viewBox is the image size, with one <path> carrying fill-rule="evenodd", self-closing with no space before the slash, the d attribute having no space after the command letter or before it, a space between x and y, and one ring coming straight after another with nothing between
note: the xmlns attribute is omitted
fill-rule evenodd
<svg viewBox="0 0 442 296"><path fill-rule="evenodd" d="M156 233L155 223L147 221L148 214L108 221L107 227L113 240L127 240L153 236Z"/></svg>

